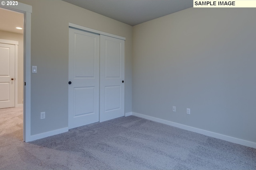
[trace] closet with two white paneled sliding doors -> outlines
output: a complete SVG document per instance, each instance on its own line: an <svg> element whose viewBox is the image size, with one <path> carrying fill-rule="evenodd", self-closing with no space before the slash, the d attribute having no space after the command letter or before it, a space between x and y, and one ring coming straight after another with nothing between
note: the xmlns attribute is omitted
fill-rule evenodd
<svg viewBox="0 0 256 170"><path fill-rule="evenodd" d="M69 129L124 116L124 42L69 27Z"/></svg>

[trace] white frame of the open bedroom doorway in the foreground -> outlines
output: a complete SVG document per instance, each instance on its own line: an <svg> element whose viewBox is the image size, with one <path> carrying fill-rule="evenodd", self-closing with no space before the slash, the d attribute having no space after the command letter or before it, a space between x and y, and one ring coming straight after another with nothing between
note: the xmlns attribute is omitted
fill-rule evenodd
<svg viewBox="0 0 256 170"><path fill-rule="evenodd" d="M2 6L7 10L24 14L24 97L23 97L23 141L31 140L31 13L32 6L18 2L17 6Z"/></svg>

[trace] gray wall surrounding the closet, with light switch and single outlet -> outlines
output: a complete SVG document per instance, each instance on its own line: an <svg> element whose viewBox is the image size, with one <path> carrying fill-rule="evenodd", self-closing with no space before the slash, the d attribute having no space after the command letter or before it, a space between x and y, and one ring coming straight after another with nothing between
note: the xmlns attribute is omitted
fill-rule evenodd
<svg viewBox="0 0 256 170"><path fill-rule="evenodd" d="M32 6L31 135L68 127L68 23L126 37L125 112L132 111L132 26L61 0L19 0ZM40 112L46 119L40 119Z"/></svg>

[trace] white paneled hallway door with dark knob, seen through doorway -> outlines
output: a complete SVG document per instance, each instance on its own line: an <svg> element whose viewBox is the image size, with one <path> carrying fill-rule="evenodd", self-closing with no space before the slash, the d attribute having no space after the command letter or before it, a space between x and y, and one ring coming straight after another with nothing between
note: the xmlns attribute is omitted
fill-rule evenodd
<svg viewBox="0 0 256 170"><path fill-rule="evenodd" d="M0 43L0 109L15 107L15 45Z"/></svg>

